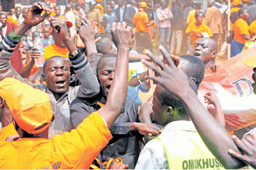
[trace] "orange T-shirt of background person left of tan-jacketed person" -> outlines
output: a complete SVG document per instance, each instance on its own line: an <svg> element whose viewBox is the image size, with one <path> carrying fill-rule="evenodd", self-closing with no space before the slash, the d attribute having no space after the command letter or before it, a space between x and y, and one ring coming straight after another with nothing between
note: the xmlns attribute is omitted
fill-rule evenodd
<svg viewBox="0 0 256 170"><path fill-rule="evenodd" d="M199 26L196 26L194 22L192 22L188 28L186 29L185 33L190 33L190 30L193 30L192 35L192 45L193 49L195 48L197 37L195 36L195 33L201 34L201 33L207 33L210 37L213 36L211 30L209 27L205 24L201 24Z"/></svg>

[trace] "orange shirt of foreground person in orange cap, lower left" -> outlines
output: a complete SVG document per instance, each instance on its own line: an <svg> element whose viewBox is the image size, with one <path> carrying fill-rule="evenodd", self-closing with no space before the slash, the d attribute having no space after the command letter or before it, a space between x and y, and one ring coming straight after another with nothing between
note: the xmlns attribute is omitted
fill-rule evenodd
<svg viewBox="0 0 256 170"><path fill-rule="evenodd" d="M70 133L0 142L0 169L89 169L112 138L98 112Z"/></svg>

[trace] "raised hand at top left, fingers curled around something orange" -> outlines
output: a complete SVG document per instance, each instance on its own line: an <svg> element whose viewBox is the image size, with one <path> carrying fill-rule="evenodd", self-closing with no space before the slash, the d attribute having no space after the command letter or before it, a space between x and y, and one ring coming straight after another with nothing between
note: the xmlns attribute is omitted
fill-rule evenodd
<svg viewBox="0 0 256 170"><path fill-rule="evenodd" d="M45 11L45 14L41 16L42 11ZM26 18L23 21L25 25L27 26L35 26L39 24L40 22L43 22L43 20L51 14L53 10L51 10L45 3L38 2L33 4L27 12Z"/></svg>

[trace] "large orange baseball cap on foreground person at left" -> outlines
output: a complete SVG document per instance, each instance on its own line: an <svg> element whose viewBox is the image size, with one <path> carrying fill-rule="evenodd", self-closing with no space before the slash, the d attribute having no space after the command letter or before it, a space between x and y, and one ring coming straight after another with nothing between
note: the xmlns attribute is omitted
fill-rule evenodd
<svg viewBox="0 0 256 170"><path fill-rule="evenodd" d="M54 119L48 94L13 78L0 82L0 96L6 101L13 119L29 134L38 134Z"/></svg>

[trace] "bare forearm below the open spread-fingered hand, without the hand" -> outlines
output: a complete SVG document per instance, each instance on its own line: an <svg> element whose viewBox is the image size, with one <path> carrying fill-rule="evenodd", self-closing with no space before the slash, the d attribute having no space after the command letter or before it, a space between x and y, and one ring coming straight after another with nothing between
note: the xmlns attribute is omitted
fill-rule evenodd
<svg viewBox="0 0 256 170"><path fill-rule="evenodd" d="M207 148L226 169L238 169L246 164L238 161L228 153L228 149L241 153L232 136L208 113L205 107L190 90L181 100L190 115L193 124Z"/></svg>

